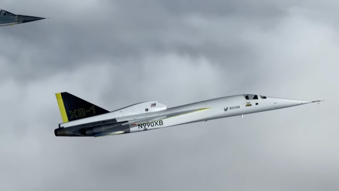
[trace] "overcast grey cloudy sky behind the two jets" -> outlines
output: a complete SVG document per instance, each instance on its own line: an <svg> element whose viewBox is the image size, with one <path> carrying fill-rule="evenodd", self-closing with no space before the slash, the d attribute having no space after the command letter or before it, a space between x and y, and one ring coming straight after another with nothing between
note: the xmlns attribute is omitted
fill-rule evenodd
<svg viewBox="0 0 339 191"><path fill-rule="evenodd" d="M338 190L339 2L2 0L0 190ZM55 137L68 91L107 110L253 93L319 105Z"/></svg>

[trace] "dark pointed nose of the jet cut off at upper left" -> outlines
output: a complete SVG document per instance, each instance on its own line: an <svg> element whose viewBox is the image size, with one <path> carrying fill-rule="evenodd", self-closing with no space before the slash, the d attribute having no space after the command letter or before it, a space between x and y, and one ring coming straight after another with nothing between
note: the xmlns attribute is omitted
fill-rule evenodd
<svg viewBox="0 0 339 191"><path fill-rule="evenodd" d="M0 9L0 26L9 26L14 24L21 24L37 20L46 19L43 17L33 17L27 15L16 15L5 10Z"/></svg>

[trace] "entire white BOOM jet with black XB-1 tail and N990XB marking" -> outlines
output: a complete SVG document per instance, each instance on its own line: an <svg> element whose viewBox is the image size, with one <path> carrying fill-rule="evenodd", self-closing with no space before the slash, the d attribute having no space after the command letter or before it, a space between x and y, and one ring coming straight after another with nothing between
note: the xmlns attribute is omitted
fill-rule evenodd
<svg viewBox="0 0 339 191"><path fill-rule="evenodd" d="M54 134L63 137L135 133L321 102L240 94L168 109L157 101L142 102L110 112L68 92L55 95L63 123Z"/></svg>

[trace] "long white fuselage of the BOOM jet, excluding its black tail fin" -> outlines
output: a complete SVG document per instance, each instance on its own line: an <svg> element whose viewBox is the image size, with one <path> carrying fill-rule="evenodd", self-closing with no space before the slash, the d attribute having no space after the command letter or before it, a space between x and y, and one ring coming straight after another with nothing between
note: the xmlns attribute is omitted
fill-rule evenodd
<svg viewBox="0 0 339 191"><path fill-rule="evenodd" d="M246 95L249 97L247 98ZM106 114L60 123L60 128L55 130L55 136L97 137L136 133L308 103L312 102L244 94L127 116L123 116L122 110L119 109Z"/></svg>

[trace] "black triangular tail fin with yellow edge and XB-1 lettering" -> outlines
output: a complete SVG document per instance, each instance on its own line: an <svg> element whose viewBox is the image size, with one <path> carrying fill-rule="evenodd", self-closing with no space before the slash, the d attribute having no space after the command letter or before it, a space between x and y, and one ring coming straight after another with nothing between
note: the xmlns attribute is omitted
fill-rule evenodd
<svg viewBox="0 0 339 191"><path fill-rule="evenodd" d="M55 93L55 96L58 101L62 121L64 123L109 113L106 109L91 104L69 92Z"/></svg>

